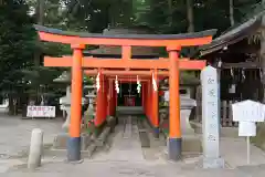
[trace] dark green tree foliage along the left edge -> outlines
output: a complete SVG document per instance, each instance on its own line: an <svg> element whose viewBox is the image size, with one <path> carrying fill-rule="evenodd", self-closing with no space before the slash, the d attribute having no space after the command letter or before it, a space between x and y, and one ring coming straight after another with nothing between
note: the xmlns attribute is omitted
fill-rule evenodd
<svg viewBox="0 0 265 177"><path fill-rule="evenodd" d="M24 1L9 0L0 6L0 86L18 90L21 70L32 64L35 31Z"/></svg>

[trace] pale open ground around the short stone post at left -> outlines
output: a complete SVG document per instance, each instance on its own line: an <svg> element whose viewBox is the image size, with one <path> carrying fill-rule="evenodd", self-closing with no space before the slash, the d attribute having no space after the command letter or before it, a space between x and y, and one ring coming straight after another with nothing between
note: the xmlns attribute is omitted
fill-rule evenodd
<svg viewBox="0 0 265 177"><path fill-rule="evenodd" d="M30 145L31 131L44 131L44 144L51 144L62 129L62 119L21 119L0 113L0 159L19 156Z"/></svg>

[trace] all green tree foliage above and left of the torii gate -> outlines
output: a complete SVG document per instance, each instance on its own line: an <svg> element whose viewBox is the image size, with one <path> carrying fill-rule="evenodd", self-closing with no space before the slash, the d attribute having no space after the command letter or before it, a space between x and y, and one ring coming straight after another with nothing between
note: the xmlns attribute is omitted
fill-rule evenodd
<svg viewBox="0 0 265 177"><path fill-rule="evenodd" d="M44 0L42 0L44 1ZM234 19L250 18L261 0L234 0ZM59 70L33 67L34 51L42 55L71 54L68 45L36 42L32 28L40 19L38 0L0 0L0 88L31 90L52 85ZM107 27L148 25L158 33L187 32L187 0L45 0L44 25L71 31L100 33ZM230 27L230 3L193 0L194 30ZM41 63L42 65L42 63ZM49 74L47 74L49 73ZM44 79L45 77L45 79ZM29 84L31 81L31 84Z"/></svg>

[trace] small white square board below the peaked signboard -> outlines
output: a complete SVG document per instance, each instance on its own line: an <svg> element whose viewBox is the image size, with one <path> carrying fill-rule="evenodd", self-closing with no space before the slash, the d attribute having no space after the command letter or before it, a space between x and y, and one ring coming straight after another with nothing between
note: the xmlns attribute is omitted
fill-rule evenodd
<svg viewBox="0 0 265 177"><path fill-rule="evenodd" d="M256 136L256 123L240 122L239 136Z"/></svg>

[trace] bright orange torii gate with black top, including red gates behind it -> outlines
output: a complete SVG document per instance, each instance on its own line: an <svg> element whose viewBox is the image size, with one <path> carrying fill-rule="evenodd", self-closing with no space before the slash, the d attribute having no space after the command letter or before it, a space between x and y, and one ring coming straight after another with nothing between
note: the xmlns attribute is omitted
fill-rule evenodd
<svg viewBox="0 0 265 177"><path fill-rule="evenodd" d="M205 61L179 60L182 46L194 46L209 44L216 30L208 30L186 34L125 34L103 35L89 33L73 33L57 29L35 25L40 39L49 42L71 44L73 56L44 58L45 66L72 67L72 100L71 100L71 125L67 146L67 159L75 162L81 159L81 101L82 101L82 70L85 69L89 75L100 74L100 82L105 91L97 92L96 116L106 118L107 114L115 111L116 101L107 100L107 90L114 90L115 75L124 81L131 81L128 75L144 76L142 102L147 116L150 118L155 129L158 129L158 93L152 90L150 75L155 80L169 76L170 92L170 121L169 121L169 158L177 160L181 156L181 127L180 127L180 100L179 100L179 69L201 70ZM89 45L117 45L121 46L121 59L84 58L85 44ZM163 46L169 52L169 59L140 60L131 59L131 46ZM137 70L137 71L135 71ZM147 71L146 71L147 70ZM105 76L104 76L105 75ZM106 77L106 75L110 77ZM106 82L108 81L108 82ZM158 83L158 82L157 82ZM148 97L147 97L148 96ZM115 97L115 93L110 93ZM108 107L108 108L106 108ZM112 113L110 113L112 112ZM100 124L104 119L99 119Z"/></svg>

